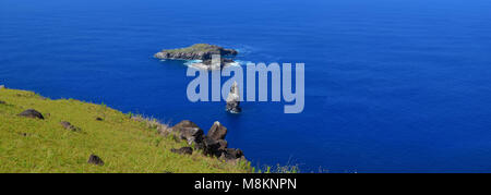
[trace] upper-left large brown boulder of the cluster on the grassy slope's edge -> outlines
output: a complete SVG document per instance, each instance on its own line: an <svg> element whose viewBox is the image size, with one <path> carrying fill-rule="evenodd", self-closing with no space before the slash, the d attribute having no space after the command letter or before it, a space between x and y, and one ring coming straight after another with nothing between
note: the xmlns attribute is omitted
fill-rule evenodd
<svg viewBox="0 0 491 195"><path fill-rule="evenodd" d="M170 129L170 132L177 133L181 139L187 139L189 145L201 143L204 135L203 130L189 120L179 122Z"/></svg>

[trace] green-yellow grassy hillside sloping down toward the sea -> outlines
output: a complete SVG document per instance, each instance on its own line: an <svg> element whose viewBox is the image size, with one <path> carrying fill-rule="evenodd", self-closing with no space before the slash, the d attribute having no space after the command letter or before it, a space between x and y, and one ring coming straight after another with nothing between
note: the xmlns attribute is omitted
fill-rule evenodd
<svg viewBox="0 0 491 195"><path fill-rule="evenodd" d="M170 153L185 146L163 137L147 122L101 105L50 100L32 92L0 89L0 172L250 172L199 153ZM45 120L17 114L26 109ZM101 118L101 121L96 120ZM80 132L63 129L68 121ZM105 164L87 163L91 154Z"/></svg>

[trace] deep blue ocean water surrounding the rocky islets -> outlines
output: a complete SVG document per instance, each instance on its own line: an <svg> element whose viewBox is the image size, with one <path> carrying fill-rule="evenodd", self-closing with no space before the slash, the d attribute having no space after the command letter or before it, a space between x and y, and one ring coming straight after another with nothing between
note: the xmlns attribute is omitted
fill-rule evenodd
<svg viewBox="0 0 491 195"><path fill-rule="evenodd" d="M306 63L306 107L190 102L184 61ZM303 172L491 172L491 1L1 0L0 84L229 129L253 166Z"/></svg>

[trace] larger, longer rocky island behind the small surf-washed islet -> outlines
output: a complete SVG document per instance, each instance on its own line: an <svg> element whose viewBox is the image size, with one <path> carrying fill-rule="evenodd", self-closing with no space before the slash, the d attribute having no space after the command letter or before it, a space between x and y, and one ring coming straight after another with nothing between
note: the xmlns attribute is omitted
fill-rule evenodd
<svg viewBox="0 0 491 195"><path fill-rule="evenodd" d="M212 59L213 54L237 56L238 52L219 46L195 44L187 48L163 50L155 53L154 57L158 59L208 60Z"/></svg>

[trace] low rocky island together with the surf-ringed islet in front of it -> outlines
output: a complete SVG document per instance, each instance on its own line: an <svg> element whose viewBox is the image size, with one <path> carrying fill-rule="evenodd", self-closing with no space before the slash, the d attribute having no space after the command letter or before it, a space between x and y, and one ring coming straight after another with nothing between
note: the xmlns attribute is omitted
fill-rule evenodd
<svg viewBox="0 0 491 195"><path fill-rule="evenodd" d="M160 60L200 60L199 62L192 63L191 66L217 70L236 63L230 58L236 57L238 53L235 49L226 49L209 44L195 44L187 48L165 49L155 53L154 57ZM212 61L213 56L220 57L219 64L215 64L217 62Z"/></svg>

